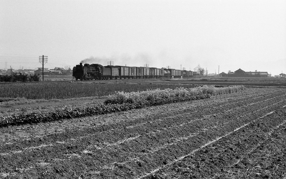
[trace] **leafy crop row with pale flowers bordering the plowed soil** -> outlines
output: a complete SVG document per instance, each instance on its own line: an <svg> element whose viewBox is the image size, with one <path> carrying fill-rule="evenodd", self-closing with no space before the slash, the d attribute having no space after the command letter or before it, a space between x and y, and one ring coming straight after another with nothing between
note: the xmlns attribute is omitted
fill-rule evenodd
<svg viewBox="0 0 286 179"><path fill-rule="evenodd" d="M64 108L64 109L56 109L55 111L49 112L32 112L32 113L23 113L23 114L13 114L11 116L2 117L0 120L0 126L7 125L15 125L15 124L24 124L24 123L33 123L33 122L47 122L52 120L61 120L68 119L73 117L84 117L90 115L99 115L105 113L111 113L116 111L126 111L129 109L138 109L146 106L159 105L165 103L172 103L178 101L188 101L194 99L204 99L209 98L211 95L216 93L210 93L212 90L220 90L225 91L225 93L231 91L241 91L244 88L242 86L237 87L226 87L213 89L209 87L202 88L193 88L193 89L185 89L185 88L177 88L174 90L165 89L160 90L156 89L153 91L142 91L139 93L139 100L134 102L123 101L120 103L110 103L106 100L105 104L97 104L94 106L82 106L75 108ZM158 92L159 91L159 92ZM165 95L154 95L156 93L165 93ZM186 92L187 91L187 92ZM186 92L184 94L184 92ZM128 95L128 93L124 93ZM149 96L143 97L144 95L152 95L152 98ZM180 95L178 95L180 94ZM141 100L146 99L146 100Z"/></svg>

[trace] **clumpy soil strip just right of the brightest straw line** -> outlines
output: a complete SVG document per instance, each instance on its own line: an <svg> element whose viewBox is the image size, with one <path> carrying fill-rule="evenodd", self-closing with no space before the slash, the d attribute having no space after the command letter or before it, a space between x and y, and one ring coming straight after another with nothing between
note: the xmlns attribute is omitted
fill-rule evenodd
<svg viewBox="0 0 286 179"><path fill-rule="evenodd" d="M280 117L281 114L284 118ZM284 110L279 109L267 117L257 119L244 128L243 131L237 131L227 138L206 147L204 150L200 150L194 155L185 158L182 162L172 164L170 167L174 170L172 170L172 174L170 172L167 172L167 174L172 175L172 177L178 176L182 178L184 176L190 178L194 176L212 178L213 175L217 178L221 178L221 176L226 178L238 176L233 174L237 173L237 171L233 171L233 168L242 167L239 163L245 159L240 158L253 156L249 150L256 150L261 145L261 140L269 140L269 135L273 135L276 129L285 124L285 117ZM261 131L264 131L264 133L261 133ZM239 160L237 160L237 157L239 157ZM230 163L235 163L235 161L235 166L229 168ZM243 172L245 172L245 167L243 165ZM249 168L249 166L247 167ZM163 173L166 174L166 169L161 169L158 176Z"/></svg>

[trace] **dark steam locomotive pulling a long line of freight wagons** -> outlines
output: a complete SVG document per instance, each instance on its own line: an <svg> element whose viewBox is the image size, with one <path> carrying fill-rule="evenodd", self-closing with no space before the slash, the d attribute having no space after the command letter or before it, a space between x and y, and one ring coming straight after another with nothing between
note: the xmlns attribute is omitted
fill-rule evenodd
<svg viewBox="0 0 286 179"><path fill-rule="evenodd" d="M136 66L102 66L100 64L80 63L73 68L76 80L108 80L108 79L138 79L166 77L190 77L192 71L166 68L149 68Z"/></svg>

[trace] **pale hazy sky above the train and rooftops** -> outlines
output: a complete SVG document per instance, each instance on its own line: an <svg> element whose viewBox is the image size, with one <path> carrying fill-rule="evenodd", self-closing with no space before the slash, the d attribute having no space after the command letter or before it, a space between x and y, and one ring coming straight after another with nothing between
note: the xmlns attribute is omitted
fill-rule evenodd
<svg viewBox="0 0 286 179"><path fill-rule="evenodd" d="M0 69L170 66L286 73L286 1L0 0Z"/></svg>

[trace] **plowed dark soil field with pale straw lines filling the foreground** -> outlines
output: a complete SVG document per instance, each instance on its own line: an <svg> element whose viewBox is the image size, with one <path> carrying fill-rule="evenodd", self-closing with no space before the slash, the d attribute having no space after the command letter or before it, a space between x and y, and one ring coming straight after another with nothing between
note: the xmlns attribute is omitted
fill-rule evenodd
<svg viewBox="0 0 286 179"><path fill-rule="evenodd" d="M286 178L285 88L0 128L0 177Z"/></svg>

